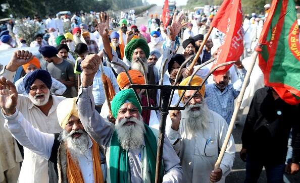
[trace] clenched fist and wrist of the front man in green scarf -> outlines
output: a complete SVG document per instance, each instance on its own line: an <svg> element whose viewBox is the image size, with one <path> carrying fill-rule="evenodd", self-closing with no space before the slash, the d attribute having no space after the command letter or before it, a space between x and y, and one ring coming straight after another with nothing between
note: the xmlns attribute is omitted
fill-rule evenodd
<svg viewBox="0 0 300 183"><path fill-rule="evenodd" d="M83 71L82 86L90 86L93 83L94 76L99 69L101 57L97 54L90 54L81 62Z"/></svg>

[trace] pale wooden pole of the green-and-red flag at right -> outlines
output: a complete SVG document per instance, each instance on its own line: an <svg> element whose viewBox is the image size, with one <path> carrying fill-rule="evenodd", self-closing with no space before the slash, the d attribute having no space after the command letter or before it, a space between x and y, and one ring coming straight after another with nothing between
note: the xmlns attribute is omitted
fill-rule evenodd
<svg viewBox="0 0 300 183"><path fill-rule="evenodd" d="M238 112L238 109L239 109L239 107L241 105L241 102L242 102L242 99L243 99L243 96L244 96L244 93L245 93L248 81L250 79L250 75L251 75L251 73L253 71L253 68L254 68L257 56L258 56L258 51L255 51L254 55L253 55L253 59L252 59L251 65L250 65L250 67L249 67L249 69L248 69L248 71L246 73L244 82L242 84L242 88L241 88L240 93L238 95L237 102L236 102L236 105L234 107L234 111L233 111L233 114L232 114L232 117L231 117L231 120L230 120L230 124L229 124L229 127L228 127L228 131L227 131L224 143L222 145L219 157L218 157L217 162L215 164L215 169L220 168L221 161L223 159L223 156L225 154L225 151L226 151L226 148L227 148L230 136L232 134L232 130L233 130L233 127L234 127L234 123L235 123L235 119L236 119L236 116L237 116L237 112Z"/></svg>

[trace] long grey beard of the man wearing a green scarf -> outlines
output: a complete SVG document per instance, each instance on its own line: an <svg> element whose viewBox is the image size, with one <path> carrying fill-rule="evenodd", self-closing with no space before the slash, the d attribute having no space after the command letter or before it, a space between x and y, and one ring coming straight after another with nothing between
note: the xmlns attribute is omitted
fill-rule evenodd
<svg viewBox="0 0 300 183"><path fill-rule="evenodd" d="M142 116L139 117L142 119ZM135 122L134 125L124 125L127 121ZM120 121L116 121L116 130L118 134L118 140L123 150L137 149L144 141L145 127L142 120L135 117L130 119L123 118Z"/></svg>

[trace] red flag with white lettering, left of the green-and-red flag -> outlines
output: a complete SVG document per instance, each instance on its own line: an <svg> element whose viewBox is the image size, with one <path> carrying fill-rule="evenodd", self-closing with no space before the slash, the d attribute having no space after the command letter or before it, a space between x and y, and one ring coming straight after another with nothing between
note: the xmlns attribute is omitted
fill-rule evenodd
<svg viewBox="0 0 300 183"><path fill-rule="evenodd" d="M222 45L219 48L218 58L214 62L215 66L238 60L243 53L243 29L241 0L225 0L211 26L217 28L225 34ZM221 67L213 74L215 76L225 74L232 65Z"/></svg>

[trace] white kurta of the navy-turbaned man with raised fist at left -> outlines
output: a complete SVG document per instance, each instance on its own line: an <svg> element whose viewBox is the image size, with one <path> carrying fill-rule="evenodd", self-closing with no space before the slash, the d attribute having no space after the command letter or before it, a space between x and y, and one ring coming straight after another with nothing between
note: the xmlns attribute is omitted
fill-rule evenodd
<svg viewBox="0 0 300 183"><path fill-rule="evenodd" d="M4 76L10 81L13 81L15 72L10 72L3 69L0 76ZM24 117L30 121L31 125L44 133L60 133L60 127L57 119L56 108L57 105L65 99L65 97L52 95L53 105L46 116L41 110L33 105L29 97L18 95L17 108ZM33 153L24 147L24 161L22 163L21 172L18 183L48 183L48 161Z"/></svg>

